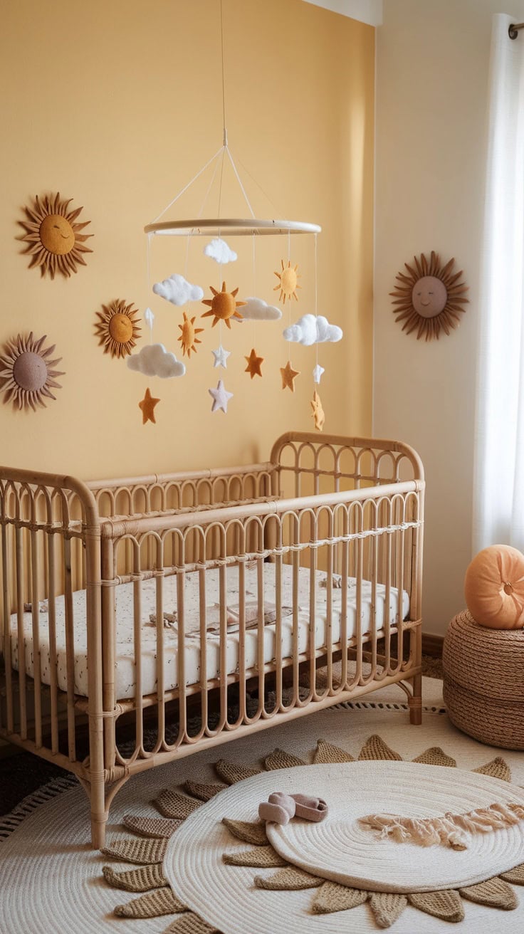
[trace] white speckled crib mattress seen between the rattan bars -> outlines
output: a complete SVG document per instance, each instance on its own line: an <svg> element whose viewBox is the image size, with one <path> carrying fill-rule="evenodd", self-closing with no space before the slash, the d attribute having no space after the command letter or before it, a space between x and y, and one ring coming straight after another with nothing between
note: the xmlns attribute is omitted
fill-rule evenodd
<svg viewBox="0 0 524 934"><path fill-rule="evenodd" d="M276 573L275 565L266 563L263 568L264 575L264 627L263 627L263 662L269 663L276 658ZM327 590L326 573L316 574L315 596L315 648L326 646L327 633ZM339 578L334 575L335 583ZM164 658L163 674L165 690L178 686L178 636L177 636L177 578L170 576L158 578L159 586L163 587L163 612L166 619L163 622L164 630ZM142 622L140 628L140 646L136 651L140 654L142 669L142 694L153 694L157 690L157 627L156 627L156 587L157 581L142 582L141 607ZM310 605L310 574L307 568L299 571L298 588L298 647L299 653L304 653L309 645L309 605ZM257 600L257 570L256 566L246 568L246 603L248 626L253 628L246 631L246 669L254 668L258 662L258 600ZM333 588L332 599L332 636L331 644L340 639L340 618L342 609L342 591ZM136 692L136 665L135 665L135 636L134 636L134 590L133 584L122 584L115 587L116 599L116 655L115 655L115 682L118 700L134 698ZM239 665L239 635L238 635L238 569L227 569L227 618L228 633L226 647L226 667L228 674L238 672ZM282 567L282 606L285 608L282 616L281 643L282 658L292 658L292 568L289 565ZM200 590L198 573L185 575L184 587L184 680L187 686L199 684L201 668L204 667L206 680L220 676L220 584L218 570L208 570L205 573L205 607L206 607L206 638L205 646L201 646L200 638ZM43 602L39 607L39 643L41 679L44 684L50 684L50 639L49 616L47 604ZM86 592L75 591L73 595L74 632L75 632L75 693L88 696L88 662L87 662L87 632L86 632ZM409 613L409 596L406 591L402 595L402 618ZM373 625L373 594L369 581L362 581L361 588L361 632L369 632ZM389 606L386 607L386 587L376 585L375 594L375 625L380 630L389 618L390 625L396 625L401 616L399 606L399 593L391 587L389 591ZM65 615L64 597L55 598L55 626L57 644L57 683L61 690L66 690L66 656L65 656ZM19 668L19 644L17 617L11 616L11 658L15 669ZM349 578L347 588L347 638L350 639L357 627L357 587L354 578ZM30 612L23 615L23 633L25 646L25 672L33 676L34 673L34 647L32 615Z"/></svg>

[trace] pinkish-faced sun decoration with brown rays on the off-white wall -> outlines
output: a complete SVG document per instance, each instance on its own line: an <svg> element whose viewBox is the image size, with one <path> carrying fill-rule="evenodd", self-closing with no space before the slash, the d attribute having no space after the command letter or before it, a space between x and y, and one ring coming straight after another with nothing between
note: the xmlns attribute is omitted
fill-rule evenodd
<svg viewBox="0 0 524 934"><path fill-rule="evenodd" d="M438 253L432 250L428 261L423 253L414 257L414 265L404 262L407 275L397 273L398 284L389 292L394 299L393 314L397 321L404 321L403 331L417 331L417 340L426 341L440 337L441 331L449 334L460 324L460 315L469 299L465 297L468 287L460 282L462 270L453 272L454 259L443 266Z"/></svg>

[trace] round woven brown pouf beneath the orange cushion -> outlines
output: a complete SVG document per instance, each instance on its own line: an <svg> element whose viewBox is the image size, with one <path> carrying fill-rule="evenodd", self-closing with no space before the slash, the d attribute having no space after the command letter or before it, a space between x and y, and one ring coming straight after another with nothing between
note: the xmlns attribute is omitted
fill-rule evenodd
<svg viewBox="0 0 524 934"><path fill-rule="evenodd" d="M524 630L492 630L468 610L443 651L444 702L456 727L481 743L524 749Z"/></svg>

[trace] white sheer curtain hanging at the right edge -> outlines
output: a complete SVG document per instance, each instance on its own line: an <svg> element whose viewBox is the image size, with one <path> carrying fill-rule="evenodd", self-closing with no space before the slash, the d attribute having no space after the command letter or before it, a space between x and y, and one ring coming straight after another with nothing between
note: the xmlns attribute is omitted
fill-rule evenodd
<svg viewBox="0 0 524 934"><path fill-rule="evenodd" d="M493 17L474 451L474 553L524 550L524 31Z"/></svg>

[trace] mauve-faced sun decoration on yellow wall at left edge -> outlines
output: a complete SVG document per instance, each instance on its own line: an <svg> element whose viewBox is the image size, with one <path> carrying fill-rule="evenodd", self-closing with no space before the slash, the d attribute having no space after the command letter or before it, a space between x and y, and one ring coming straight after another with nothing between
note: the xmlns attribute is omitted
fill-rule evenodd
<svg viewBox="0 0 524 934"><path fill-rule="evenodd" d="M7 341L5 353L0 356L0 391L5 393L4 402L12 402L15 409L46 407L47 399L56 399L51 389L62 389L56 376L63 376L54 367L62 357L50 360L55 345L45 347L47 334L35 338L18 334Z"/></svg>

